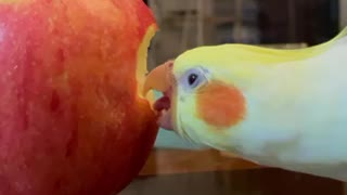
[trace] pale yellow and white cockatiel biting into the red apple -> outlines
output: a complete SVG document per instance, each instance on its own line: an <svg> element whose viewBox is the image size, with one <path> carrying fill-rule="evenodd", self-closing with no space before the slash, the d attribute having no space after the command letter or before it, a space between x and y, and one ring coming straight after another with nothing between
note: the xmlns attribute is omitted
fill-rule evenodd
<svg viewBox="0 0 347 195"><path fill-rule="evenodd" d="M296 50L188 50L149 73L162 128L268 167L347 181L347 27Z"/></svg>

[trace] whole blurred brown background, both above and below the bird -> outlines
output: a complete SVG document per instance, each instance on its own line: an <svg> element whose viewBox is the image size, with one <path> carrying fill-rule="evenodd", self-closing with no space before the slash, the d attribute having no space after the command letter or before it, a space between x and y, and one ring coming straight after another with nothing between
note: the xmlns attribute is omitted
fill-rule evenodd
<svg viewBox="0 0 347 195"><path fill-rule="evenodd" d="M146 0L159 31L149 69L198 46L305 48L347 26L347 0ZM198 150L160 130L137 180L121 195L347 195L342 182L259 167L233 154Z"/></svg>

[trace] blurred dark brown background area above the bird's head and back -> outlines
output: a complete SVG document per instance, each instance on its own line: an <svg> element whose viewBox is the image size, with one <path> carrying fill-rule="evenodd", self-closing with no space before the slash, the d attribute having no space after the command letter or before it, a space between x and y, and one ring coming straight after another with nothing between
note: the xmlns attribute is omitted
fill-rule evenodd
<svg viewBox="0 0 347 195"><path fill-rule="evenodd" d="M345 24L345 1L146 0L160 28L151 44L150 65L203 44L317 44Z"/></svg>

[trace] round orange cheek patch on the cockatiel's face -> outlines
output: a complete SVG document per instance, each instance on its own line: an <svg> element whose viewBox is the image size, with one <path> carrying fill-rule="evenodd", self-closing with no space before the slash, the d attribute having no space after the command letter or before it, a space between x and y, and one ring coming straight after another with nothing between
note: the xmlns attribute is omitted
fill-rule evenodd
<svg viewBox="0 0 347 195"><path fill-rule="evenodd" d="M196 96L198 117L210 126L229 128L242 120L245 99L234 87L211 81Z"/></svg>

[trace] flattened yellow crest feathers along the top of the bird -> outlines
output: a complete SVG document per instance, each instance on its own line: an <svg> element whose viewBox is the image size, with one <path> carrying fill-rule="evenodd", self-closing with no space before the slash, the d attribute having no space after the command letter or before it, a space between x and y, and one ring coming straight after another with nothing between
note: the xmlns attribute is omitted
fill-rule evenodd
<svg viewBox="0 0 347 195"><path fill-rule="evenodd" d="M347 27L330 41L303 49L271 49L240 43L198 47L188 50L177 57L175 69L184 69L188 63L191 65L219 64L222 66L242 63L243 65L258 64L268 66L291 61L300 61L329 50L332 44L345 36L347 36Z"/></svg>

